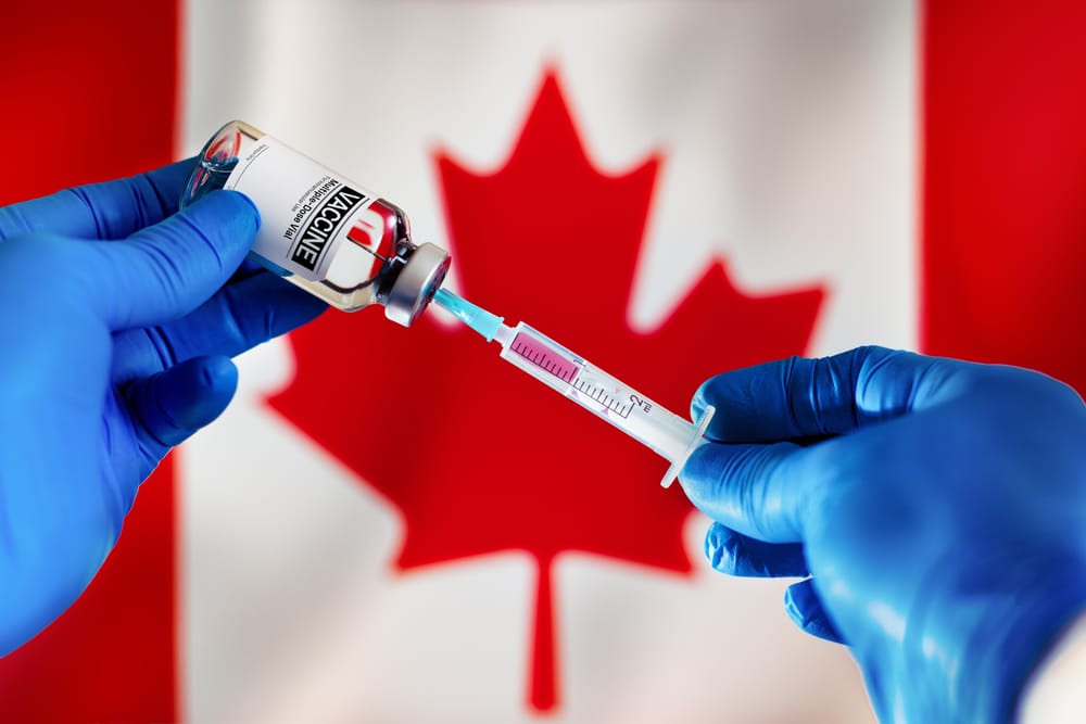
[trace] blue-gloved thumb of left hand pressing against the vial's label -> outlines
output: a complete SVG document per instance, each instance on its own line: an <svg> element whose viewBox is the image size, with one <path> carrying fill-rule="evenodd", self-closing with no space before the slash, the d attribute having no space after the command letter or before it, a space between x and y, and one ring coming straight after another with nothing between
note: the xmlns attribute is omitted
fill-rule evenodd
<svg viewBox="0 0 1086 724"><path fill-rule="evenodd" d="M256 206L214 191L125 241L79 244L81 300L114 331L176 319L200 306L244 259L260 226ZM102 290L108 290L102 293Z"/></svg>

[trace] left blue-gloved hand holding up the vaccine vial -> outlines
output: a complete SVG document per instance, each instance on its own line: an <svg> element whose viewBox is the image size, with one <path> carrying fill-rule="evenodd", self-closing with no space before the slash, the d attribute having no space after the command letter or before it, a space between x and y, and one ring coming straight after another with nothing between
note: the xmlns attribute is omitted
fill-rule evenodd
<svg viewBox="0 0 1086 724"><path fill-rule="evenodd" d="M223 411L229 357L325 308L239 271L243 195L177 212L191 167L0 208L0 655L75 600L140 482Z"/></svg>

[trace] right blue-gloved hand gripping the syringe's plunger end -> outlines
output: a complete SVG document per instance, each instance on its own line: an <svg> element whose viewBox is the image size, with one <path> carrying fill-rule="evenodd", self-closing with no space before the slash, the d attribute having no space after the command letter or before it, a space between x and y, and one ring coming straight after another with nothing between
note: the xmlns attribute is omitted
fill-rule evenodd
<svg viewBox="0 0 1086 724"><path fill-rule="evenodd" d="M847 644L885 722L1007 722L1086 608L1086 407L1024 369L879 347L720 374L680 480L712 566Z"/></svg>

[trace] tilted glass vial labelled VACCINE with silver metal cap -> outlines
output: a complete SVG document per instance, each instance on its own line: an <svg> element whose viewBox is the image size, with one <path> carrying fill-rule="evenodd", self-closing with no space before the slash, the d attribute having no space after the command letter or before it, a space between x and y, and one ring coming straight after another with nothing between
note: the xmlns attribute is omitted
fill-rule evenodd
<svg viewBox="0 0 1086 724"><path fill-rule="evenodd" d="M449 270L447 252L411 240L399 206L240 120L204 145L181 207L215 189L260 209L253 258L345 312L379 304L409 327Z"/></svg>

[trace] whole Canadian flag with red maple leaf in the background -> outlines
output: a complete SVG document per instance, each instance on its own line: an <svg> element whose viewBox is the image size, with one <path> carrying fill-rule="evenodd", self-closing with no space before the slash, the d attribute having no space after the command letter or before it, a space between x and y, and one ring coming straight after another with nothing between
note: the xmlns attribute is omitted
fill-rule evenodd
<svg viewBox="0 0 1086 724"><path fill-rule="evenodd" d="M715 372L866 343L1086 390L1079 2L62 1L5 25L0 202L240 118L404 207L455 291L680 414ZM666 462L441 314L330 312L238 361L90 588L0 660L0 720L873 721L787 582L708 569Z"/></svg>

